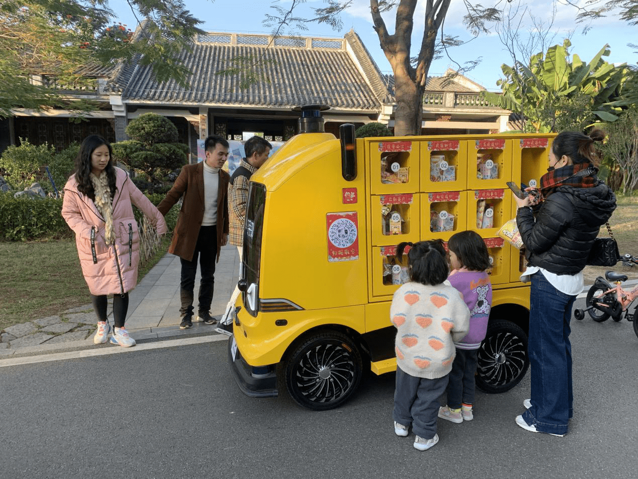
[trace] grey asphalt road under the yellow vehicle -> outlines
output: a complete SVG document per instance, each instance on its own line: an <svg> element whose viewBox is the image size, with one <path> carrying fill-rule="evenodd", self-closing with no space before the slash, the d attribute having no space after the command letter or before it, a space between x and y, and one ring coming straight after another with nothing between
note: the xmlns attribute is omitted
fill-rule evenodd
<svg viewBox="0 0 638 479"><path fill-rule="evenodd" d="M242 395L226 341L5 367L0 478L636 478L632 325L572 320L572 344L567 436L514 423L528 374L510 392L479 392L472 422L440 420L427 452L394 435L394 374L314 413L285 392Z"/></svg>

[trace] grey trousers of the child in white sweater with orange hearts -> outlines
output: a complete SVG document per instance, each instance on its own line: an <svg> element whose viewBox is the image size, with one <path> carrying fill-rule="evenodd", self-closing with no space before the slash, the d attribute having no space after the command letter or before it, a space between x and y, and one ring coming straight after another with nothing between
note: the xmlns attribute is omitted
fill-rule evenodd
<svg viewBox="0 0 638 479"><path fill-rule="evenodd" d="M410 376L397 367L394 390L394 420L423 439L432 439L436 434L439 398L445 392L448 376L424 379Z"/></svg>

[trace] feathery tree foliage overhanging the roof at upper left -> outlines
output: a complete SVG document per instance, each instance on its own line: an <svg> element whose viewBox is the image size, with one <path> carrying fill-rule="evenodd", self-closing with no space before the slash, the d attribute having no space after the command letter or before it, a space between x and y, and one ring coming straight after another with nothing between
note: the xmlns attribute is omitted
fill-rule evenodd
<svg viewBox="0 0 638 479"><path fill-rule="evenodd" d="M135 0L129 6L143 25L133 33L115 24L108 0L4 0L0 2L0 117L11 109L63 107L77 112L95 109L65 89L94 87L82 68L112 66L137 56L160 82L186 86L189 70L179 55L192 48L200 20L183 0ZM29 73L45 73L54 82L32 84Z"/></svg>

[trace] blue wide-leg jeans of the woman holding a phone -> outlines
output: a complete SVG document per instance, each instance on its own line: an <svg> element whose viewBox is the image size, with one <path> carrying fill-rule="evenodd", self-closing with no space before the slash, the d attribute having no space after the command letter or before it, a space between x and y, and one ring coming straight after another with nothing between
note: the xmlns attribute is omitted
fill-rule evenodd
<svg viewBox="0 0 638 479"><path fill-rule="evenodd" d="M531 276L531 407L523 418L540 432L565 434L572 417L572 345L569 342L576 296L561 293L538 271Z"/></svg>

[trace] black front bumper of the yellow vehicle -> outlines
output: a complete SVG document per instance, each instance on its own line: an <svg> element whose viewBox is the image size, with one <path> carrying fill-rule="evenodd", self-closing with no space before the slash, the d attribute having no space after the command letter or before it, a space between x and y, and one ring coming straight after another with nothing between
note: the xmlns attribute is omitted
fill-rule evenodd
<svg viewBox="0 0 638 479"><path fill-rule="evenodd" d="M260 367L255 370L242 357L234 336L228 339L228 362L230 363L230 369L234 373L235 382L242 393L250 397L278 396L277 374L274 365ZM267 371L264 369L267 369ZM256 374L257 372L259 374Z"/></svg>

